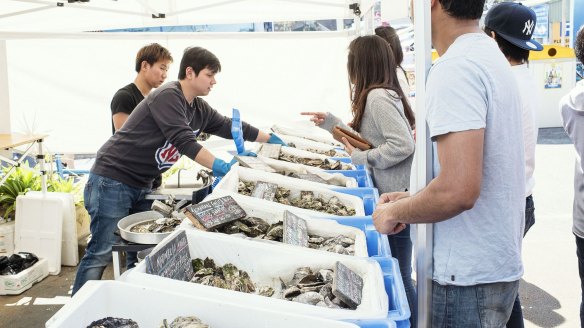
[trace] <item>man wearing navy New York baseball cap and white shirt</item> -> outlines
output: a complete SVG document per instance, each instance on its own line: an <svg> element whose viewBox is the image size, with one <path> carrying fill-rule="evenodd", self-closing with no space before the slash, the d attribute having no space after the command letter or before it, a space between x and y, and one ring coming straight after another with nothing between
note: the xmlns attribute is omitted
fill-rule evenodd
<svg viewBox="0 0 584 328"><path fill-rule="evenodd" d="M543 49L539 42L531 38L535 23L535 12L529 7L514 2L503 2L494 6L487 12L485 17L485 32L497 42L499 49L501 49L501 52L511 65L511 71L519 86L523 146L525 150L524 234L535 223L535 207L532 196L535 184L533 171L535 169L535 145L538 131L535 113L540 102L538 101L537 93L535 93L537 87L527 67L529 52ZM519 295L515 298L507 327L523 327L523 313Z"/></svg>

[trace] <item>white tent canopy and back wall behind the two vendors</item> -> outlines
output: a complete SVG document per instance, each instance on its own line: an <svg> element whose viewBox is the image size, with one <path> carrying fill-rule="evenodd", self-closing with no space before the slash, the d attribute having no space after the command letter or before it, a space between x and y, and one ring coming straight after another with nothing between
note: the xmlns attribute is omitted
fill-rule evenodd
<svg viewBox="0 0 584 328"><path fill-rule="evenodd" d="M364 13L373 6L371 0L0 1L0 132L48 133L54 153L93 153L111 135L111 97L133 81L136 52L151 42L173 54L167 82L176 80L186 47L215 53L223 69L205 98L225 115L237 107L244 120L263 127L306 119L298 114L303 110L350 115L352 32L81 31L343 19L354 17L350 3Z"/></svg>

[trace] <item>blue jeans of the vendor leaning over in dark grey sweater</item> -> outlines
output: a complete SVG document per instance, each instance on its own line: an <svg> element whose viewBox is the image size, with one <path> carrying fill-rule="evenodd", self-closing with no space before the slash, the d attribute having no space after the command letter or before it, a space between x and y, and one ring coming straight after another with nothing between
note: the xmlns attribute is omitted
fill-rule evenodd
<svg viewBox="0 0 584 328"><path fill-rule="evenodd" d="M88 280L99 280L112 261L112 245L120 242L114 232L120 219L134 213L150 210L152 202L144 199L149 188L135 188L117 180L90 174L83 198L91 216L91 240L79 263L73 295ZM127 265L136 262L136 254L128 254Z"/></svg>

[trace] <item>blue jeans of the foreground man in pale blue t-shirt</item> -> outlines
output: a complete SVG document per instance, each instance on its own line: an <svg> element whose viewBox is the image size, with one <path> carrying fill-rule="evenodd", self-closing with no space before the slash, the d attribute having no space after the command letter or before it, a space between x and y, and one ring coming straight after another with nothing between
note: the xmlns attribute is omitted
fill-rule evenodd
<svg viewBox="0 0 584 328"><path fill-rule="evenodd" d="M440 285L432 282L432 327L505 327L519 280L474 286Z"/></svg>

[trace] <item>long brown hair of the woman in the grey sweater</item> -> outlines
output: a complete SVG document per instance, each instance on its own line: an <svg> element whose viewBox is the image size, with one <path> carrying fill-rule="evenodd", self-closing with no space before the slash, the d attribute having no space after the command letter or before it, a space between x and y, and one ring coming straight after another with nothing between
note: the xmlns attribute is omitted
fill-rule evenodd
<svg viewBox="0 0 584 328"><path fill-rule="evenodd" d="M404 107L404 113L412 128L415 116L397 79L397 64L390 45L377 35L361 36L349 45L347 60L351 91L352 126L361 129L367 95L373 89L390 89L397 93Z"/></svg>

